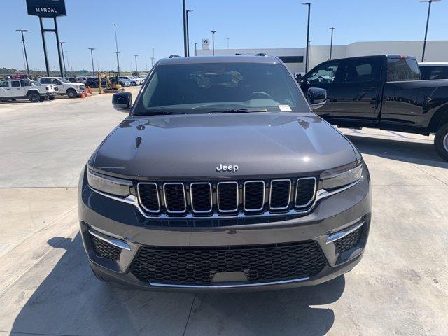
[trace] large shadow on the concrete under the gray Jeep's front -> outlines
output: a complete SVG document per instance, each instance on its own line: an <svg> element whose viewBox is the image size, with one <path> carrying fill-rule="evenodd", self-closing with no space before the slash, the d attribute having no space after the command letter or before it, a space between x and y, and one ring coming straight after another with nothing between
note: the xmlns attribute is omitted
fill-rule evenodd
<svg viewBox="0 0 448 336"><path fill-rule="evenodd" d="M314 287L255 293L124 290L94 277L79 233L73 240L55 237L48 244L54 249L28 272L27 282L8 294L22 307L13 333L320 336L330 330L335 314L311 306L337 301L345 287L341 276ZM62 257L58 249L65 250ZM35 288L32 279L43 273L48 275Z"/></svg>

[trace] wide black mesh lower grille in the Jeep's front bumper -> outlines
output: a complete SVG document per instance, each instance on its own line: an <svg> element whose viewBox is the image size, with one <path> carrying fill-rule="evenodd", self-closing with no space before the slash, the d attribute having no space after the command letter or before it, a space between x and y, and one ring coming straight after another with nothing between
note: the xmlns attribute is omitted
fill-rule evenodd
<svg viewBox="0 0 448 336"><path fill-rule="evenodd" d="M248 283L260 283L315 276L325 265L315 241L258 246L144 246L131 272L146 283L209 285L216 272L244 272Z"/></svg>

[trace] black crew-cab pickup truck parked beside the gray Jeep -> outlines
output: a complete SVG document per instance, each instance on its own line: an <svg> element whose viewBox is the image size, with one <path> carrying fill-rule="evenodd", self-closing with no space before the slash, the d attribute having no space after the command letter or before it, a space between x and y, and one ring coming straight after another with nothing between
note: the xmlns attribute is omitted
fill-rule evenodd
<svg viewBox="0 0 448 336"><path fill-rule="evenodd" d="M340 127L372 127L429 135L448 160L448 80L421 80L414 57L332 59L300 78L300 87L327 90L319 116Z"/></svg>

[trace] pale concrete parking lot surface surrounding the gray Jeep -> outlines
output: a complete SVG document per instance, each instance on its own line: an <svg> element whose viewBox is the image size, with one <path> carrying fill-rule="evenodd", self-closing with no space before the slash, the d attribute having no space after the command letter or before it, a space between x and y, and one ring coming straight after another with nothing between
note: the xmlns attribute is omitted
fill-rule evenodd
<svg viewBox="0 0 448 336"><path fill-rule="evenodd" d="M97 281L78 234L80 169L124 117L110 94L0 102L0 335L447 335L448 163L433 137L343 130L374 197L367 251L345 276L262 293L152 293Z"/></svg>

